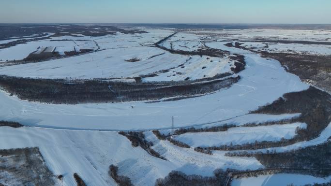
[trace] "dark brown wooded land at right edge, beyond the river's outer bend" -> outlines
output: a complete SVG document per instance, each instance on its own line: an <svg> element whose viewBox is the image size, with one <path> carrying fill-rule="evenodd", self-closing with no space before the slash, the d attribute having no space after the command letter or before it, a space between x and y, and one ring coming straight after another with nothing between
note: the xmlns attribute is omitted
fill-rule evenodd
<svg viewBox="0 0 331 186"><path fill-rule="evenodd" d="M331 92L331 56L262 52L262 57L276 59L286 71L302 81Z"/></svg>

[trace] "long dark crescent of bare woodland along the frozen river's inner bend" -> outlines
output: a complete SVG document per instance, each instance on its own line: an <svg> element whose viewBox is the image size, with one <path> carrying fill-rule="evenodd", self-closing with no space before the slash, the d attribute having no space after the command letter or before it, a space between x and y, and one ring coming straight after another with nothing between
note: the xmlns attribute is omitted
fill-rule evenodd
<svg viewBox="0 0 331 186"><path fill-rule="evenodd" d="M127 83L102 80L32 79L0 76L0 86L18 98L55 104L160 100L202 95L231 86L240 77L193 81Z"/></svg>

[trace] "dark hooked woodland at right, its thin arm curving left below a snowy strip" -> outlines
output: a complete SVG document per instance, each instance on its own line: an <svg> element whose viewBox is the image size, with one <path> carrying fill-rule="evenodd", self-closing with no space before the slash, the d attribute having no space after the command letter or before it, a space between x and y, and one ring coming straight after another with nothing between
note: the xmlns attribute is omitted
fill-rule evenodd
<svg viewBox="0 0 331 186"><path fill-rule="evenodd" d="M319 136L331 122L331 96L313 86L301 92L290 92L273 103L259 107L251 114L295 114L301 113L294 121L306 123L306 129L297 128L297 135L292 139L282 139L278 142L263 141L241 145L221 145L206 147L210 150L250 150L285 146L308 141ZM283 121L283 123L286 121Z"/></svg>

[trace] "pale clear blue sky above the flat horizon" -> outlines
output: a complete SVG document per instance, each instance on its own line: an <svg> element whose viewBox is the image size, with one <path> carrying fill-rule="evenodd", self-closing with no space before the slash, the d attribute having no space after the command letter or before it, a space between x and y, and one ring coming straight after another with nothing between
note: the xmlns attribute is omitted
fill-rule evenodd
<svg viewBox="0 0 331 186"><path fill-rule="evenodd" d="M0 23L327 23L331 0L0 0Z"/></svg>

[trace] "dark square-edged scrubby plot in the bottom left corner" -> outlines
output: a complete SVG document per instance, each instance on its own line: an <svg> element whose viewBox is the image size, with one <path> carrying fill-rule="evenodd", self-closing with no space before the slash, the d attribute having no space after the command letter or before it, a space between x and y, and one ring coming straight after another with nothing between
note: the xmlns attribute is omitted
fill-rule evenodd
<svg viewBox="0 0 331 186"><path fill-rule="evenodd" d="M46 166L37 147L0 150L0 162L3 185L55 185L56 176Z"/></svg>

